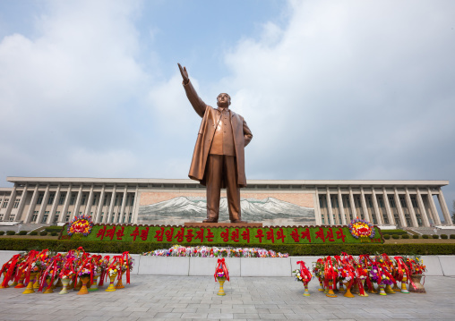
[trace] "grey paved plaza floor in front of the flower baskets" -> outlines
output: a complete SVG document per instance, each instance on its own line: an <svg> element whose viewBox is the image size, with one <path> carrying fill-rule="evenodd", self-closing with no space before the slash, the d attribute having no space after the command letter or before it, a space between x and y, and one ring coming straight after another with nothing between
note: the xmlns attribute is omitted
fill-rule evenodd
<svg viewBox="0 0 455 321"><path fill-rule="evenodd" d="M454 320L455 278L425 278L426 294L370 294L327 298L310 283L311 297L292 277L236 277L217 295L213 277L133 275L114 292L76 295L0 290L0 320Z"/></svg>

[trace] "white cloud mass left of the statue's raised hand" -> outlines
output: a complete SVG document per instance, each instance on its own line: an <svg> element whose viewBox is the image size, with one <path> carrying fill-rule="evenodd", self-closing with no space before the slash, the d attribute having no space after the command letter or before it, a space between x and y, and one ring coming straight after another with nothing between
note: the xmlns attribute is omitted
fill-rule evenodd
<svg viewBox="0 0 455 321"><path fill-rule="evenodd" d="M138 2L51 1L47 15L36 19L37 35L1 40L0 136L9 138L2 144L11 152L0 161L8 171L30 173L32 159L31 175L52 175L65 156L76 157L63 165L67 174L72 162L79 164L76 173L103 171L101 160L133 140L128 119L150 84L135 59L139 8ZM98 151L85 155L73 148ZM132 157L124 167L134 164Z"/></svg>

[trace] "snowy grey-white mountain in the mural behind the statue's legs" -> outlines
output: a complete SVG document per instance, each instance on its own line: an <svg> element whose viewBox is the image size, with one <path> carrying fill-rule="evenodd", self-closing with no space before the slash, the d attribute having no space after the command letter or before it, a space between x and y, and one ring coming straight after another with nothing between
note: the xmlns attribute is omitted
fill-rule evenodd
<svg viewBox="0 0 455 321"><path fill-rule="evenodd" d="M314 208L299 207L275 198L241 199L242 219L266 225L315 224ZM156 204L139 207L138 223L183 224L199 222L207 216L204 198L177 197ZM219 222L228 222L227 199L219 204Z"/></svg>

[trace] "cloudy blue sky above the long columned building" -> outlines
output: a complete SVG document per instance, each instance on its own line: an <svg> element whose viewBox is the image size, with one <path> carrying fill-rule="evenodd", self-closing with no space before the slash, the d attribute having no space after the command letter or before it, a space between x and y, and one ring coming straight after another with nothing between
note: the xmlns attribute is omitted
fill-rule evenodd
<svg viewBox="0 0 455 321"><path fill-rule="evenodd" d="M248 179L455 182L454 29L452 1L0 1L0 185L186 178L176 63L245 117Z"/></svg>

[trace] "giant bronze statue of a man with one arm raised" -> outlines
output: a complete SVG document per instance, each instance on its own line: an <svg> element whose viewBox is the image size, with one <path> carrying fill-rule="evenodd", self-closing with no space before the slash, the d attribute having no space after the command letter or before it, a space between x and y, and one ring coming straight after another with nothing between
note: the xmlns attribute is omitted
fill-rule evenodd
<svg viewBox="0 0 455 321"><path fill-rule="evenodd" d="M231 223L246 223L241 218L240 188L246 186L244 148L253 134L244 117L229 109L229 95L219 94L217 109L206 105L194 90L186 68L180 63L178 68L184 79L186 97L202 117L188 176L207 187L207 219L203 223L218 222L222 188L227 189Z"/></svg>

